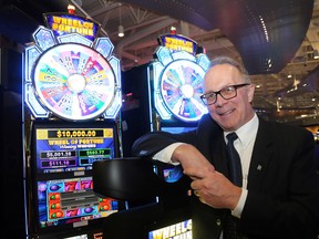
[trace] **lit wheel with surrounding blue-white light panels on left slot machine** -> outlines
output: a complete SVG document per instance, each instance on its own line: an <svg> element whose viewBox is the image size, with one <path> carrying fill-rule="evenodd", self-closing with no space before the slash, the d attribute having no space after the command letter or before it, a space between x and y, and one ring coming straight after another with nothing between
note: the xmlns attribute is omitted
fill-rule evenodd
<svg viewBox="0 0 319 239"><path fill-rule="evenodd" d="M44 27L25 49L24 101L37 118L115 118L122 105L121 65L109 38L55 35Z"/></svg>

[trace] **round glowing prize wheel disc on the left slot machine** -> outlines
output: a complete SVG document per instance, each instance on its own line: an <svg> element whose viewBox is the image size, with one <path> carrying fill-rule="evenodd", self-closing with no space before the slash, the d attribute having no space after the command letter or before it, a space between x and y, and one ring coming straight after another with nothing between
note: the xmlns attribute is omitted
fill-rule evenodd
<svg viewBox="0 0 319 239"><path fill-rule="evenodd" d="M101 115L115 94L112 66L83 44L59 44L42 53L32 79L42 103L65 119Z"/></svg>

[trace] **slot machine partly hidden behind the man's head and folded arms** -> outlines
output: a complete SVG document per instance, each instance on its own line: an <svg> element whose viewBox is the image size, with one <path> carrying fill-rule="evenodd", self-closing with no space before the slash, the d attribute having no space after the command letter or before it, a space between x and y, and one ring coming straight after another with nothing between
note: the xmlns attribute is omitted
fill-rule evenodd
<svg viewBox="0 0 319 239"><path fill-rule="evenodd" d="M204 93L203 80L210 61L203 48L184 35L164 34L160 35L157 41L160 46L154 53L154 61L147 67L152 108L151 131L173 134L192 131L208 112L200 95ZM178 185L182 172L181 166L157 165L155 168L155 173L167 184ZM181 200L187 201L188 198L184 197ZM177 211L179 209L178 212L168 208L164 220L147 228L150 239L157 238L158 235L193 238L193 230L196 228L193 227L194 221L188 207L176 208Z"/></svg>

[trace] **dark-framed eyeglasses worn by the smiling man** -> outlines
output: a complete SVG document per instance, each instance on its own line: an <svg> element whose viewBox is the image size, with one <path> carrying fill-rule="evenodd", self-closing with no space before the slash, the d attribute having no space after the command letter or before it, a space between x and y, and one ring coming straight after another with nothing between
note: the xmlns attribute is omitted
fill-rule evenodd
<svg viewBox="0 0 319 239"><path fill-rule="evenodd" d="M249 83L245 84L237 84L237 85L228 85L224 89L222 89L218 92L209 92L207 94L200 95L200 100L205 105L212 105L217 101L217 95L219 94L225 100L230 100L233 97L237 96L237 89L244 87L246 85L249 85Z"/></svg>

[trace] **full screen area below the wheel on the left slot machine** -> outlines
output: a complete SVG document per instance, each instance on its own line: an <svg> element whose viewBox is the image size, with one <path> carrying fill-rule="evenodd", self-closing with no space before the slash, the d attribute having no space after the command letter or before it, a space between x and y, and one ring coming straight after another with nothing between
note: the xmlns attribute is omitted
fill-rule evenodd
<svg viewBox="0 0 319 239"><path fill-rule="evenodd" d="M117 156L114 125L34 124L32 159L38 227L83 227L119 210L119 201L93 191L92 164Z"/></svg>

